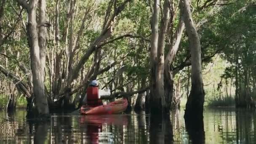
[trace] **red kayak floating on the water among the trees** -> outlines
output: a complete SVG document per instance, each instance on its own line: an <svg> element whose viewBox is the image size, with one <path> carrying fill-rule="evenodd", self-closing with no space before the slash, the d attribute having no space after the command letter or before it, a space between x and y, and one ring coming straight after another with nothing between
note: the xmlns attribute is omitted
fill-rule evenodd
<svg viewBox="0 0 256 144"><path fill-rule="evenodd" d="M98 107L82 106L81 115L109 115L124 112L128 106L127 99L120 99L109 104L100 105Z"/></svg>

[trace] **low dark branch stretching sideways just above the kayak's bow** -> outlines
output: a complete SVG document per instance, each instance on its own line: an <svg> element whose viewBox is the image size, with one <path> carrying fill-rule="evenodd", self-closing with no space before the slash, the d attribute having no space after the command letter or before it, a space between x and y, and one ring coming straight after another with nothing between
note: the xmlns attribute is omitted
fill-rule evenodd
<svg viewBox="0 0 256 144"><path fill-rule="evenodd" d="M129 97L129 96L132 96L133 94L136 94L136 93L143 93L145 91L147 91L149 89L149 87L147 88L143 88L141 90L138 90L138 91L131 91L131 92L117 92L117 93L114 93L110 96L101 96L101 99L113 99L113 98L121 98L121 97Z"/></svg>

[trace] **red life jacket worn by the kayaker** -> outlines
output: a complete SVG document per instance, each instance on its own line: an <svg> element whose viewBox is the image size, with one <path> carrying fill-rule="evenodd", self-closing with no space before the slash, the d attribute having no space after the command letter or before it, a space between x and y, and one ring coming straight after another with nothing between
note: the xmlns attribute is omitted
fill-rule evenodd
<svg viewBox="0 0 256 144"><path fill-rule="evenodd" d="M102 105L101 99L99 99L99 88L91 86L87 88L87 104L90 107L97 107Z"/></svg>

